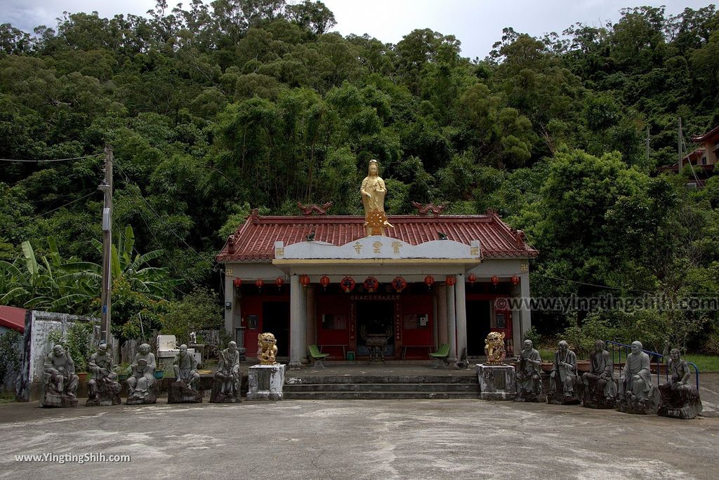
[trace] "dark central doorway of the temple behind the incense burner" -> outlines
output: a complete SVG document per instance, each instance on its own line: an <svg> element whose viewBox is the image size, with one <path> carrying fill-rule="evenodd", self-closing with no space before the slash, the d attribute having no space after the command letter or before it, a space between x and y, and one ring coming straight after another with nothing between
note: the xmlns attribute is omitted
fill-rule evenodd
<svg viewBox="0 0 719 480"><path fill-rule="evenodd" d="M371 356L384 351L395 355L395 304L391 301L357 302L357 355ZM379 350L378 350L379 349Z"/></svg>

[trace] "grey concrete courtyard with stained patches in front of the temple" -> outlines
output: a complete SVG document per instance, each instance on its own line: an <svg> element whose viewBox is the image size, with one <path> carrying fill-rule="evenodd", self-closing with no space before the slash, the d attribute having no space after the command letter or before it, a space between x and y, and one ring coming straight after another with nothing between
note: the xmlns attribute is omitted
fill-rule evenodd
<svg viewBox="0 0 719 480"><path fill-rule="evenodd" d="M719 417L482 400L0 405L3 479L715 479ZM20 462L103 453L129 463Z"/></svg>

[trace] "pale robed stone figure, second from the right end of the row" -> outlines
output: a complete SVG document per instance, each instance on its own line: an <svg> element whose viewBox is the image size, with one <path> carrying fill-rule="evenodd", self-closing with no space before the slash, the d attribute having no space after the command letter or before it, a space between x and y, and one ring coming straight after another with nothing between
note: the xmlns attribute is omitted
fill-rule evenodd
<svg viewBox="0 0 719 480"><path fill-rule="evenodd" d="M649 355L642 351L641 342L633 341L619 377L617 408L620 412L646 415L655 413L658 404L659 392L651 383Z"/></svg>

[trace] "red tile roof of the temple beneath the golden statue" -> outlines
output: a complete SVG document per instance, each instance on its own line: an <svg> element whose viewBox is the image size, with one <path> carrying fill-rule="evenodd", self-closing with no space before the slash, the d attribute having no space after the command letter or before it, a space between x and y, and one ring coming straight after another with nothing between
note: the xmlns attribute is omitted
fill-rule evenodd
<svg viewBox="0 0 719 480"><path fill-rule="evenodd" d="M387 236L418 245L447 238L469 245L479 240L484 258L536 257L521 230L513 230L493 211L487 215L390 216L394 229ZM217 255L218 262L272 262L275 241L285 246L305 241L315 232L316 241L336 246L365 236L361 216L259 216L256 211L232 234Z"/></svg>

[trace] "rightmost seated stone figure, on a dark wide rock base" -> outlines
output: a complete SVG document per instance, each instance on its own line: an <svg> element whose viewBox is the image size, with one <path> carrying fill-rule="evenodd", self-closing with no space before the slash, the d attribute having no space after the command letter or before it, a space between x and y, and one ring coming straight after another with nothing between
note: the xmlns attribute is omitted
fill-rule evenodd
<svg viewBox="0 0 719 480"><path fill-rule="evenodd" d="M669 381L659 385L661 405L659 415L663 417L694 418L702 411L702 401L696 387L689 384L692 371L686 360L679 356L679 349L672 349L667 362Z"/></svg>

